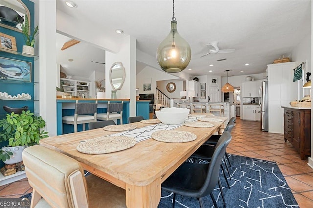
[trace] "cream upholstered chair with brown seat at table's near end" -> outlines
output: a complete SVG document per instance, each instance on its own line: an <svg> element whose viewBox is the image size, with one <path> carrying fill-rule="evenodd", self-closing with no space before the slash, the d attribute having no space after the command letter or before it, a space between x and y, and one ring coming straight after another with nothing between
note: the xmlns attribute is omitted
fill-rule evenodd
<svg viewBox="0 0 313 208"><path fill-rule="evenodd" d="M95 175L84 177L79 162L34 145L23 151L33 188L31 208L126 208L125 190Z"/></svg>

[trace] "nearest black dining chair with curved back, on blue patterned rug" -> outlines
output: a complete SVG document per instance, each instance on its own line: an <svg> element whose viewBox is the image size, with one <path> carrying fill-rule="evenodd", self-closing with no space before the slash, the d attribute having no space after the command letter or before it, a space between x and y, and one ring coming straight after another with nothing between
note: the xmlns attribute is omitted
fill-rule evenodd
<svg viewBox="0 0 313 208"><path fill-rule="evenodd" d="M202 197L210 194L214 206L217 208L213 190L219 184L224 205L225 199L219 178L222 158L226 152L231 135L225 131L215 146L210 163L184 162L163 183L162 189L173 192L173 208L175 207L175 196L180 194L188 197L196 197L201 208L204 208Z"/></svg>

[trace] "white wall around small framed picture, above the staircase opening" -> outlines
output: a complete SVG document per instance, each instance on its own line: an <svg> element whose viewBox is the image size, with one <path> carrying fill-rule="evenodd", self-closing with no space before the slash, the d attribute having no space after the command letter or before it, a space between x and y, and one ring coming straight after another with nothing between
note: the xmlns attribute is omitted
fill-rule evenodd
<svg viewBox="0 0 313 208"><path fill-rule="evenodd" d="M163 72L161 70L157 70L150 66L146 66L143 70L141 70L136 76L136 88L138 88L138 94L155 94L156 100L156 81L160 80L174 80L177 79L176 76ZM151 80L151 90L143 91L143 83Z"/></svg>

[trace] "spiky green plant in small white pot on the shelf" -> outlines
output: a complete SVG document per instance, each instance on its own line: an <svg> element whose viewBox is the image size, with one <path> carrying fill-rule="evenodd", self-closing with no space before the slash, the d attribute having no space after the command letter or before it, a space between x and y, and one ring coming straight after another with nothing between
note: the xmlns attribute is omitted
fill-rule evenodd
<svg viewBox="0 0 313 208"><path fill-rule="evenodd" d="M27 14L25 15L25 24L19 22L22 27L22 33L24 35L24 40L26 45L23 45L23 53L26 54L35 54L34 44L35 44L35 35L38 32L38 25L34 30L34 33L31 34L29 31L29 21Z"/></svg>

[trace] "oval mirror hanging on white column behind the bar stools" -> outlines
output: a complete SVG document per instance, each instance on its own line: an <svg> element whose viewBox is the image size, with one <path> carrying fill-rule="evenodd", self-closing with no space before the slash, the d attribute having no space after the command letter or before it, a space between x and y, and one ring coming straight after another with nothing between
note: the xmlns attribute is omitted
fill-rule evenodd
<svg viewBox="0 0 313 208"><path fill-rule="evenodd" d="M115 62L110 68L110 83L114 90L120 90L125 81L125 68L121 62Z"/></svg>

